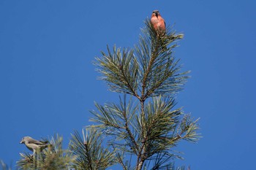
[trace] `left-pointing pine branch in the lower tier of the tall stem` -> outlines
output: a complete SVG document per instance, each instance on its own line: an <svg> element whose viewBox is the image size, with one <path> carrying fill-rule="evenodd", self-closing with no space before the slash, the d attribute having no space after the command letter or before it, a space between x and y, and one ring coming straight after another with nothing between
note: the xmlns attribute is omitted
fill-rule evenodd
<svg viewBox="0 0 256 170"><path fill-rule="evenodd" d="M136 139L136 131L132 120L135 117L135 112L138 109L137 104L132 103L132 99L128 104L124 96L124 101L120 98L120 104L105 104L105 106L96 105L99 112L92 111L95 116L91 121L99 123L91 127L98 128L99 131L106 135L116 136L120 140L125 140L127 144L124 147L132 148L132 152L138 154L138 144ZM121 144L122 145L122 144ZM120 146L121 146L120 145Z"/></svg>

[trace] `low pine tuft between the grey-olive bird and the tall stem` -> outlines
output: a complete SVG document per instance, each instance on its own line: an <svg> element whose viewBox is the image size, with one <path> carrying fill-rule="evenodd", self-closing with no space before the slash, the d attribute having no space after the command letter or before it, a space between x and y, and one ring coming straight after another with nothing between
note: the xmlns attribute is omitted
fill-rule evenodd
<svg viewBox="0 0 256 170"><path fill-rule="evenodd" d="M89 135L83 133L83 139L77 131L72 134L69 149L75 155L72 164L74 169L101 170L107 169L116 163L116 157L108 148L102 147L102 135L94 128L90 129Z"/></svg>

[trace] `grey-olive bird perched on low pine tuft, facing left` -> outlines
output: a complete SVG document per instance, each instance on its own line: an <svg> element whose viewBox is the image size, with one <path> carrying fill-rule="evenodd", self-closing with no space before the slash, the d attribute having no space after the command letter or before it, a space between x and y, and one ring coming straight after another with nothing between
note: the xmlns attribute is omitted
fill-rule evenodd
<svg viewBox="0 0 256 170"><path fill-rule="evenodd" d="M49 145L47 141L38 141L36 139L31 138L30 136L23 137L23 139L21 139L20 141L20 144L25 144L29 150L33 151L32 155L34 155L37 152L37 150L42 152L42 150L44 150Z"/></svg>

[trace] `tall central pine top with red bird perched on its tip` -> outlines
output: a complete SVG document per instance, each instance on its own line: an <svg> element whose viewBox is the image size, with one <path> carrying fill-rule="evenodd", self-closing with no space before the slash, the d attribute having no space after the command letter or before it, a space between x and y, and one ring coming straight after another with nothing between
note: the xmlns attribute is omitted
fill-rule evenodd
<svg viewBox="0 0 256 170"><path fill-rule="evenodd" d="M197 142L197 120L174 109L175 96L189 72L181 72L173 49L183 34L154 30L149 20L134 50L108 47L95 65L111 91L124 93L119 104L96 104L91 120L108 136L123 169L172 169L172 152L181 140ZM129 97L128 97L129 96ZM127 99L128 98L128 99ZM131 155L132 158L127 158ZM132 162L135 160L135 165Z"/></svg>

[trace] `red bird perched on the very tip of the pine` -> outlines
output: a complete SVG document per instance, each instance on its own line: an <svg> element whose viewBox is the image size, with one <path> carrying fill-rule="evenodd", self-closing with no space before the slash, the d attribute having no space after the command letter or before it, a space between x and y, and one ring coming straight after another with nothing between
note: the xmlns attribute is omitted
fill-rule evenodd
<svg viewBox="0 0 256 170"><path fill-rule="evenodd" d="M165 20L158 10L154 10L151 15L151 23L156 31L165 32Z"/></svg>

